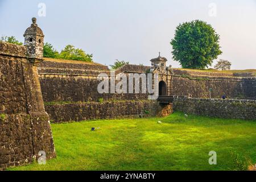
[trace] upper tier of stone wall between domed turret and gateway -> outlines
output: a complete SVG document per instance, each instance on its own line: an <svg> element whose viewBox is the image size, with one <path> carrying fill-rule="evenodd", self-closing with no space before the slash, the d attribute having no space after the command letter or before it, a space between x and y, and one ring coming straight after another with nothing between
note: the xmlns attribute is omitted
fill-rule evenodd
<svg viewBox="0 0 256 182"><path fill-rule="evenodd" d="M65 60L63 60L64 63L55 61L44 61L38 68L44 102L97 102L99 98L109 101L148 98L147 94L142 93L111 94L110 88L109 93L100 94L97 87L101 81L97 80L97 76L100 73L110 76L107 67L99 64L77 64L76 61L70 61L70 63L65 63ZM125 68L134 72L147 69L138 65L126 65ZM121 68L122 71L118 70L115 75L126 70L125 68Z"/></svg>

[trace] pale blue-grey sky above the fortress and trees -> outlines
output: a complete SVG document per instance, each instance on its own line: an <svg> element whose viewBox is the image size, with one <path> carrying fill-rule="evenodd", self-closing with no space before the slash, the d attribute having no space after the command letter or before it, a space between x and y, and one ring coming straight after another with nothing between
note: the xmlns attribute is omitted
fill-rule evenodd
<svg viewBox="0 0 256 182"><path fill-rule="evenodd" d="M39 16L39 3L46 16ZM115 59L150 65L160 51L175 68L176 26L200 19L220 35L218 59L232 61L232 69L256 69L256 0L0 0L0 36L23 42L33 16L58 51L73 44L106 65Z"/></svg>

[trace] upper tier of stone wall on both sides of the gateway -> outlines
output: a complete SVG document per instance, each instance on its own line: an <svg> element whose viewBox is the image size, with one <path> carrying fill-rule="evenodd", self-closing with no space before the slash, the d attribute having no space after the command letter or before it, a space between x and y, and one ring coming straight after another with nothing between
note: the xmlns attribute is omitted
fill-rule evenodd
<svg viewBox="0 0 256 182"><path fill-rule="evenodd" d="M100 64L76 63L76 61L44 61L38 68L44 102L87 102L104 100L145 100L147 94L99 94L97 86L100 73L110 75L107 67ZM62 62L61 62L62 61ZM115 73L146 73L150 67L125 65ZM167 83L167 91L174 96L193 98L251 99L256 97L255 77L237 77L234 73L196 72L173 69L173 75Z"/></svg>

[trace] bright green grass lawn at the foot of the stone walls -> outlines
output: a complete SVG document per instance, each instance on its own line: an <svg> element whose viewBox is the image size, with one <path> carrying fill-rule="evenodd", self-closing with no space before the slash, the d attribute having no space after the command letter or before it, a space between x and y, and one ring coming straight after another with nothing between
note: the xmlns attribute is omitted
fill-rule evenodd
<svg viewBox="0 0 256 182"><path fill-rule="evenodd" d="M52 124L52 132L56 159L10 170L234 170L231 148L256 163L256 121L174 113ZM209 165L209 151L217 165Z"/></svg>

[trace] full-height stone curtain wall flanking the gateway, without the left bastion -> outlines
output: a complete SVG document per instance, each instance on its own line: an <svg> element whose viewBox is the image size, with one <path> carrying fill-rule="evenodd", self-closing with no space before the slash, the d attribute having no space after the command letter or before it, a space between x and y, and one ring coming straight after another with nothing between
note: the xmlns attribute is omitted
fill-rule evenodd
<svg viewBox="0 0 256 182"><path fill-rule="evenodd" d="M115 75L148 73L150 68L125 65L115 71ZM156 106L157 101L148 101L148 94L99 94L98 74L110 75L108 67L104 65L46 59L39 65L38 72L51 122L159 115L163 109ZM221 98L223 94L228 98L255 98L255 77L249 74L243 76L247 77L234 73L172 69L168 90L172 96L191 94L193 98L209 98L209 89L212 88L212 98ZM98 102L100 98L104 102Z"/></svg>

